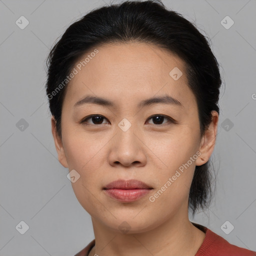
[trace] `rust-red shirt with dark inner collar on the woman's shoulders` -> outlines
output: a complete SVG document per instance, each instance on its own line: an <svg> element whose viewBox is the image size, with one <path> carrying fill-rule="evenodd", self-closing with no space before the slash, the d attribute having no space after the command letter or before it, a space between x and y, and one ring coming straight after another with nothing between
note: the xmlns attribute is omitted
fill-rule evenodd
<svg viewBox="0 0 256 256"><path fill-rule="evenodd" d="M205 226L193 223L205 233L203 242L194 256L256 256L256 251L244 249L230 244L227 240L212 232ZM90 249L95 245L95 239L74 256L88 256Z"/></svg>

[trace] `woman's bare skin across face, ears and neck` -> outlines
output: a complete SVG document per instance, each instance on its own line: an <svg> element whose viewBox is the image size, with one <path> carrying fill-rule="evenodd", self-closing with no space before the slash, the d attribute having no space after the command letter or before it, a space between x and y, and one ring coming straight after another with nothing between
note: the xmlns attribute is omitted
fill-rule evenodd
<svg viewBox="0 0 256 256"><path fill-rule="evenodd" d="M166 49L145 43L105 44L67 86L62 138L52 134L59 162L80 178L72 184L82 207L91 215L96 244L89 255L194 255L205 237L188 219L188 194L195 165L205 163L214 148L218 114L200 137L198 109L188 87L182 60ZM92 52L92 51L91 51ZM87 54L86 54L87 55ZM84 59L84 56L81 57ZM77 61L78 62L78 61ZM169 72L178 67L182 76ZM156 103L137 108L143 99L168 94L182 103ZM107 98L116 108L93 103L73 107L85 95ZM101 124L84 117L99 114ZM157 124L154 114L163 114ZM131 123L123 131L118 123ZM100 122L99 122L100 123ZM179 166L196 151L201 155L157 198L149 201ZM102 188L116 179L138 179L153 189L132 202L107 196ZM130 229L118 226L126 221Z"/></svg>

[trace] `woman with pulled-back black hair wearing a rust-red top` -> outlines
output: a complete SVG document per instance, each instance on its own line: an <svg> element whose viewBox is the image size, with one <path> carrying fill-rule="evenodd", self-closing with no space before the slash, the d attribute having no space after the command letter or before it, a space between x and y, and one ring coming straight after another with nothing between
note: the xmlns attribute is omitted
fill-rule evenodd
<svg viewBox="0 0 256 256"><path fill-rule="evenodd" d="M205 37L160 1L95 9L48 56L52 134L91 215L85 255L255 255L190 222L209 205L221 78Z"/></svg>

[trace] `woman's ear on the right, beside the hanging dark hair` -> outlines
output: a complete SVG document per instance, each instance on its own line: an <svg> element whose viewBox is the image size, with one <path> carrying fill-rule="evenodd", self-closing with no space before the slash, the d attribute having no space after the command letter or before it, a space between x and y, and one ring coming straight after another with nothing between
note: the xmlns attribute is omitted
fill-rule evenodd
<svg viewBox="0 0 256 256"><path fill-rule="evenodd" d="M204 135L201 138L199 151L201 155L195 160L195 165L202 165L208 161L210 155L214 149L218 124L218 113L215 110L211 111L211 122L205 130Z"/></svg>

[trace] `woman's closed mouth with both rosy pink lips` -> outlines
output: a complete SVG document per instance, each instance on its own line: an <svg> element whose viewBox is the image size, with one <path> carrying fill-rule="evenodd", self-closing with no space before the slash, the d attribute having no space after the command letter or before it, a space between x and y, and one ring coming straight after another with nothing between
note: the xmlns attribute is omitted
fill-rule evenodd
<svg viewBox="0 0 256 256"><path fill-rule="evenodd" d="M140 180L118 179L107 184L103 191L111 198L122 202L130 202L145 196L151 189L153 188Z"/></svg>

